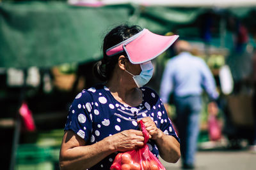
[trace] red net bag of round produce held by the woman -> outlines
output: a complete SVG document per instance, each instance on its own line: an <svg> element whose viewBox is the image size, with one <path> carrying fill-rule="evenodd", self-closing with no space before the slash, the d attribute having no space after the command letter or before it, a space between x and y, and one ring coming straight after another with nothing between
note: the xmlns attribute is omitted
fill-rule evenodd
<svg viewBox="0 0 256 170"><path fill-rule="evenodd" d="M116 155L111 170L166 170L157 157L150 152L147 141L149 134L140 120L141 130L145 138L144 145L137 150L130 150Z"/></svg>

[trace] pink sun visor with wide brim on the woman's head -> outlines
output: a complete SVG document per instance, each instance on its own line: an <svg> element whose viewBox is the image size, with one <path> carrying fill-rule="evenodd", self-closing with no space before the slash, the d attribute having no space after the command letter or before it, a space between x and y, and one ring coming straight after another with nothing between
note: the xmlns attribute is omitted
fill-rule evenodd
<svg viewBox="0 0 256 170"><path fill-rule="evenodd" d="M177 38L179 38L177 35L161 36L148 31L148 29L143 29L131 38L106 50L106 54L111 57L125 51L132 64L141 64L159 56Z"/></svg>

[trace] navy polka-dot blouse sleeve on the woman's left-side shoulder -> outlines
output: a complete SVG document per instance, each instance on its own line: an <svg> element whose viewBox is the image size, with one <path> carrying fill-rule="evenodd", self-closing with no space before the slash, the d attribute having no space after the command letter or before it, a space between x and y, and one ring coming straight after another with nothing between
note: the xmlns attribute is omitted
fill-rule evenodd
<svg viewBox="0 0 256 170"><path fill-rule="evenodd" d="M77 94L68 111L65 131L71 130L88 141L92 132L92 97L86 90Z"/></svg>

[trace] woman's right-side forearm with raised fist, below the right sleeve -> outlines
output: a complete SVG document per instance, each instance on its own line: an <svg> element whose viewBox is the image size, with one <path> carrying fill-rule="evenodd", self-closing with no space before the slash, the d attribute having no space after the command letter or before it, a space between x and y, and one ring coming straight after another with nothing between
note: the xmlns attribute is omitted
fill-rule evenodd
<svg viewBox="0 0 256 170"><path fill-rule="evenodd" d="M166 162L175 163L180 158L180 143L173 136L164 134L163 131L156 127L156 124L150 117L142 119L150 139L156 141L160 156Z"/></svg>

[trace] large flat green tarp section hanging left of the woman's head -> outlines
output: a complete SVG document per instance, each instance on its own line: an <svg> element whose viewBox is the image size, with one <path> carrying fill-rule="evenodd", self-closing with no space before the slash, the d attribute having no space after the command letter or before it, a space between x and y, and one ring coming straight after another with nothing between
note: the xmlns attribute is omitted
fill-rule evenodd
<svg viewBox="0 0 256 170"><path fill-rule="evenodd" d="M100 57L106 31L129 20L129 6L0 4L0 67L49 67Z"/></svg>

